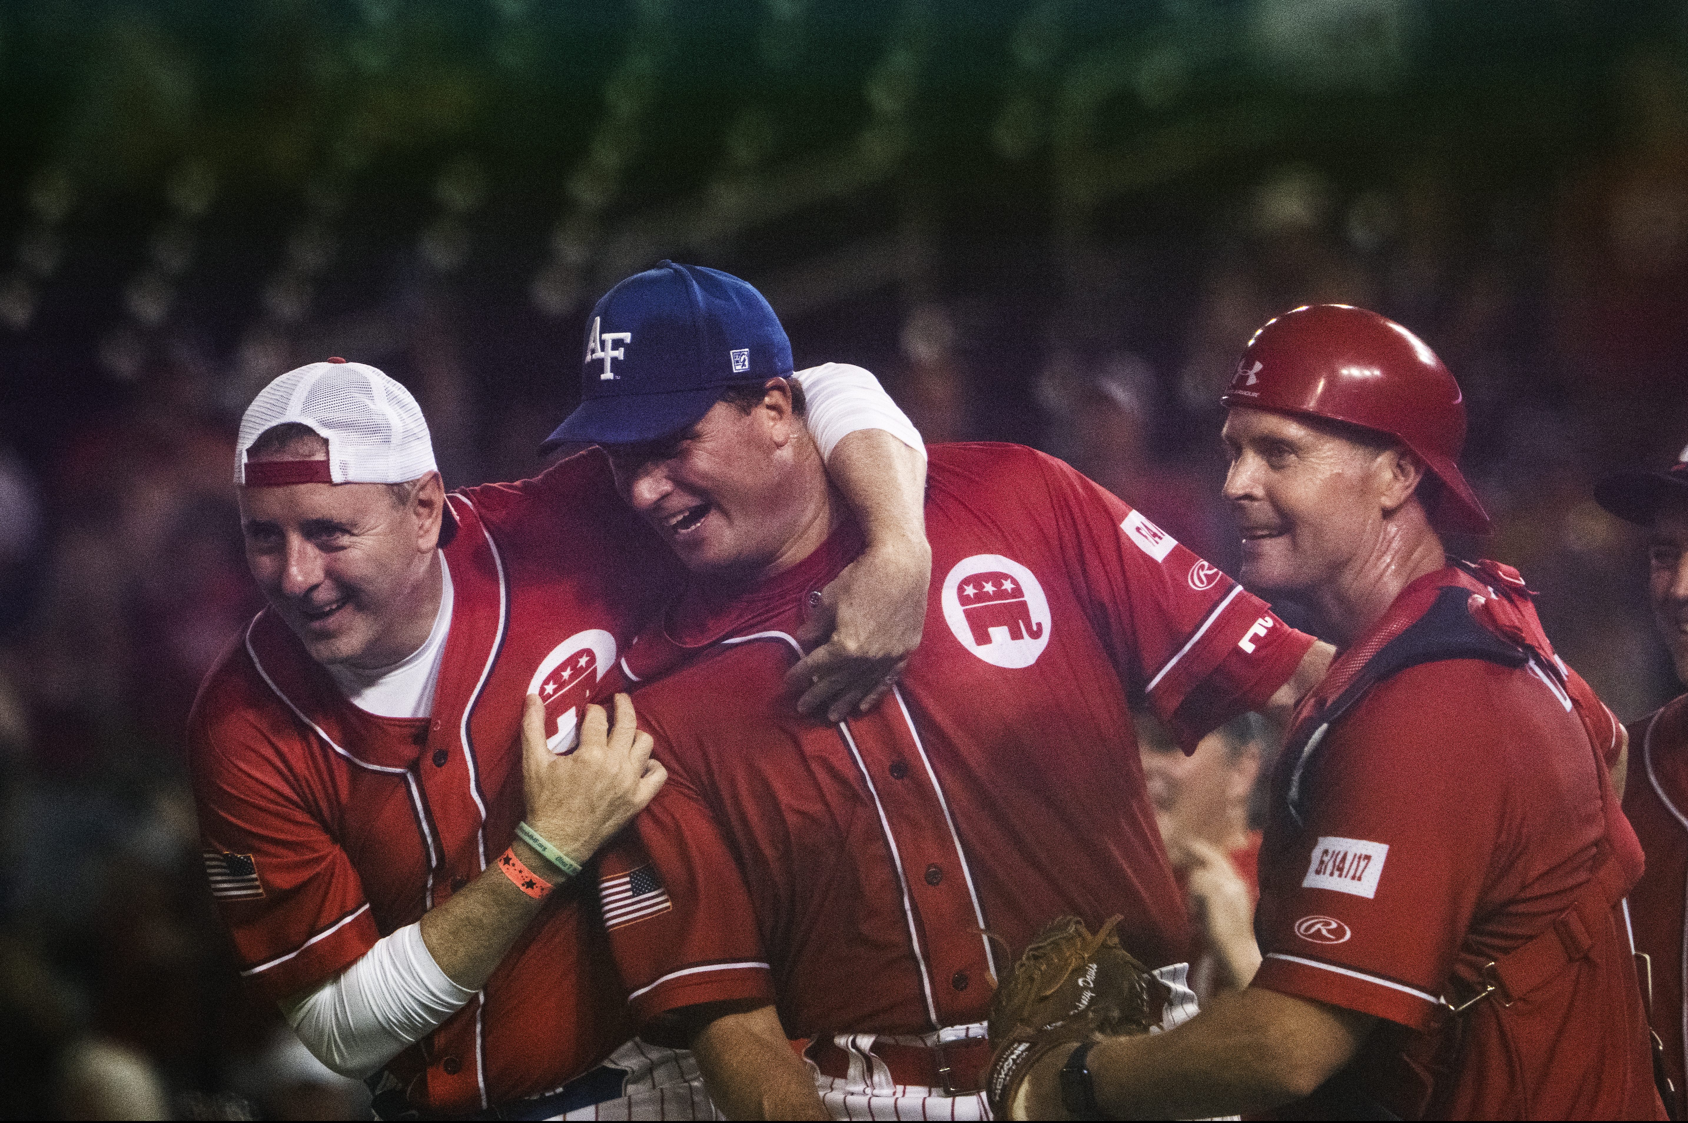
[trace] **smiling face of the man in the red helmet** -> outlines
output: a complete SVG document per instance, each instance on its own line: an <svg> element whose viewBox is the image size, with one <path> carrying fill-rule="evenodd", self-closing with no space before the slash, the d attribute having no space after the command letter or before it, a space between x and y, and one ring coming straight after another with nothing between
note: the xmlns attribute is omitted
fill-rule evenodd
<svg viewBox="0 0 1688 1123"><path fill-rule="evenodd" d="M1224 442L1242 583L1298 599L1342 583L1381 538L1388 447L1246 406L1231 410Z"/></svg>

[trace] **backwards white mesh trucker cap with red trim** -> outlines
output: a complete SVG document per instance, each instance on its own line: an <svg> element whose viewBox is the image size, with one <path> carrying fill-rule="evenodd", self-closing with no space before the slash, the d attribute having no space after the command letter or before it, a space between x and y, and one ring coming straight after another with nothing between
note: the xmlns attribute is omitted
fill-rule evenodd
<svg viewBox="0 0 1688 1123"><path fill-rule="evenodd" d="M246 450L277 425L307 425L327 442L327 460L246 464ZM365 363L307 363L277 376L246 406L235 447L235 482L403 484L439 470L422 406Z"/></svg>

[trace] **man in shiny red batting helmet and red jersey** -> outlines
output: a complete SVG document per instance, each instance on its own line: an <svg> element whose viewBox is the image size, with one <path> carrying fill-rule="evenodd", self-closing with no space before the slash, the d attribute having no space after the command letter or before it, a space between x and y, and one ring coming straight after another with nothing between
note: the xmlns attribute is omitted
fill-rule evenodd
<svg viewBox="0 0 1688 1123"><path fill-rule="evenodd" d="M1339 647L1273 776L1264 961L1166 1034L1004 1049L1001 1115L1663 1118L1620 727L1518 572L1443 550L1489 526L1453 378L1399 324L1315 305L1256 332L1224 403L1242 577Z"/></svg>

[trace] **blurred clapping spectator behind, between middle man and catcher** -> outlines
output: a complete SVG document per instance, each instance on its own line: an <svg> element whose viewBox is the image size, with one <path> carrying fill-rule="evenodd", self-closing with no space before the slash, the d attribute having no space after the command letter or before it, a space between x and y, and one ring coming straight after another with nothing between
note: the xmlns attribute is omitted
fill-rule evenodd
<svg viewBox="0 0 1688 1123"><path fill-rule="evenodd" d="M1256 713L1236 717L1188 755L1151 718L1136 725L1161 841L1195 927L1190 990L1205 1003L1220 990L1247 986L1261 964L1254 902L1266 723Z"/></svg>

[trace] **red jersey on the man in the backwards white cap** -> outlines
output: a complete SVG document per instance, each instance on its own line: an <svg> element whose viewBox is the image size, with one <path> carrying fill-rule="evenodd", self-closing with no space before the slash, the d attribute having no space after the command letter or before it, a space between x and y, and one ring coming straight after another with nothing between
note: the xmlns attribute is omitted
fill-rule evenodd
<svg viewBox="0 0 1688 1123"><path fill-rule="evenodd" d="M358 710L268 610L196 703L206 868L243 975L270 998L333 978L510 845L525 695L544 695L550 735L567 737L587 700L623 688L619 649L670 580L598 452L447 502L454 607L430 718ZM479 1110L555 1089L631 1035L582 877L387 1074L419 1108Z"/></svg>

